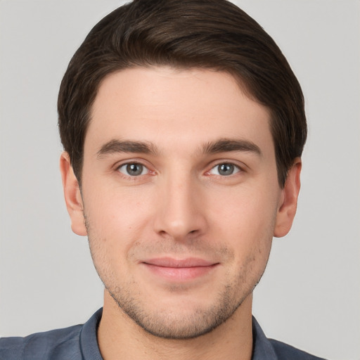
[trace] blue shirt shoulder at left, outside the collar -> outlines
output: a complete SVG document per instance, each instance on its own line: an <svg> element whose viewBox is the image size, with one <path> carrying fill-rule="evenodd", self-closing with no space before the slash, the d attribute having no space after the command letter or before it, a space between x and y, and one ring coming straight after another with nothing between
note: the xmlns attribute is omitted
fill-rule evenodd
<svg viewBox="0 0 360 360"><path fill-rule="evenodd" d="M0 360L77 359L82 325L35 333L25 338L0 338ZM65 356L65 358L64 358Z"/></svg>

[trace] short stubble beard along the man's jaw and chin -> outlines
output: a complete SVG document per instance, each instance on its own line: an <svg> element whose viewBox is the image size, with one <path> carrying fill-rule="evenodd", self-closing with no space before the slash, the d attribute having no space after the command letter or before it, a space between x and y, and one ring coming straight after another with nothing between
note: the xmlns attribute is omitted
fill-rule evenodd
<svg viewBox="0 0 360 360"><path fill-rule="evenodd" d="M243 304L243 301L252 293L257 283L259 283L264 273L266 264L261 273L253 274L253 265L256 263L255 257L248 258L238 271L237 278L230 283L223 285L212 305L203 307L198 304L189 311L179 314L177 309L170 309L166 306L148 309L146 297L139 291L134 280L122 282L120 285L115 276L111 276L112 271L103 271L98 264L104 264L105 259L97 261L99 249L97 248L98 239L92 238L89 231L89 224L86 221L86 229L89 237L89 247L98 276L101 278L105 289L116 302L122 314L139 325L146 333L158 338L169 340L186 340L198 338L201 335L210 333L212 330L225 323L233 316L236 310ZM251 280L249 281L249 278ZM240 289L240 290L239 290ZM176 291L173 289L174 296Z"/></svg>

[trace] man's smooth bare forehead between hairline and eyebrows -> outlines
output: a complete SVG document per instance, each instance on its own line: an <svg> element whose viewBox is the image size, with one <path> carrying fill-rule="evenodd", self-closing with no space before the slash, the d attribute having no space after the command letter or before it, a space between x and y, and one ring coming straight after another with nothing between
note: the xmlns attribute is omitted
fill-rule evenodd
<svg viewBox="0 0 360 360"><path fill-rule="evenodd" d="M226 72L129 68L101 83L84 150L111 139L187 149L195 143L237 137L261 146L272 141L269 120L269 110L248 98Z"/></svg>

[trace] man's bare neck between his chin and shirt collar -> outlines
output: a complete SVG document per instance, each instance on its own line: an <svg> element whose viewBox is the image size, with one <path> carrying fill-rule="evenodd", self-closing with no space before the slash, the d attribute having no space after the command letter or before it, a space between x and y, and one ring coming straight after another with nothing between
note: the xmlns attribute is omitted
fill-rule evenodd
<svg viewBox="0 0 360 360"><path fill-rule="evenodd" d="M104 360L250 360L252 355L252 295L226 322L210 333L188 340L158 338L124 314L105 290L98 345Z"/></svg>

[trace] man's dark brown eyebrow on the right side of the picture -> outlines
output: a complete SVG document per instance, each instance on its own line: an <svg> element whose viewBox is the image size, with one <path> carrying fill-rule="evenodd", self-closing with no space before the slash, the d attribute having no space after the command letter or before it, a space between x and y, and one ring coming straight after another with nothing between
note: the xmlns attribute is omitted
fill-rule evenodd
<svg viewBox="0 0 360 360"><path fill-rule="evenodd" d="M203 146L203 153L216 154L216 153L227 153L229 151L245 151L249 153L255 153L262 156L262 151L252 141L243 139L219 139L206 143Z"/></svg>

